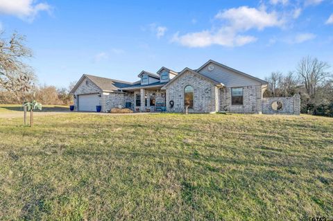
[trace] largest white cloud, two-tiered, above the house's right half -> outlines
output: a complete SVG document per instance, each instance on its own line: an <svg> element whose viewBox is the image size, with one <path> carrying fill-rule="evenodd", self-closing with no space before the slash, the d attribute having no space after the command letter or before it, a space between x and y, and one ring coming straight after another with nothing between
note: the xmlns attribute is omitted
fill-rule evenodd
<svg viewBox="0 0 333 221"><path fill-rule="evenodd" d="M282 26L284 21L279 19L276 12L266 12L264 8L248 8L242 6L219 12L216 16L224 26L216 30L203 30L197 33L187 33L173 36L172 42L178 42L188 47L206 47L212 44L221 46L243 46L257 41L257 38L241 33L250 29L264 30L267 27Z"/></svg>

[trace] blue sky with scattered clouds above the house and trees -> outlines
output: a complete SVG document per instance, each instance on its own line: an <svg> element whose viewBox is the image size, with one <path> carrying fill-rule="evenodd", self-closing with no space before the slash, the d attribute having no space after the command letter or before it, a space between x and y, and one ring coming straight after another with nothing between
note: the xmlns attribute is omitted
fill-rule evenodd
<svg viewBox="0 0 333 221"><path fill-rule="evenodd" d="M333 0L0 0L0 22L26 35L40 83L57 87L209 59L259 78L307 55L333 65Z"/></svg>

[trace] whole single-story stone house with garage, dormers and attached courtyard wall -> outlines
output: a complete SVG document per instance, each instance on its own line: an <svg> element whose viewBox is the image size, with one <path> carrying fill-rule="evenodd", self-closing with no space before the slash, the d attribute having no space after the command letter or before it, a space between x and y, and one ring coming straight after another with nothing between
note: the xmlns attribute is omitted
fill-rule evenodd
<svg viewBox="0 0 333 221"><path fill-rule="evenodd" d="M268 82L209 60L180 72L142 71L137 82L84 74L71 90L77 111L128 107L136 112L300 114L300 97L263 98Z"/></svg>

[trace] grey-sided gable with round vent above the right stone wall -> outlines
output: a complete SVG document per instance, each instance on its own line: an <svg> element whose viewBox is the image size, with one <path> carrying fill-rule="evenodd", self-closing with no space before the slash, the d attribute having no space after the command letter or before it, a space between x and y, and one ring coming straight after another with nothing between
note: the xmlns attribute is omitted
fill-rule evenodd
<svg viewBox="0 0 333 221"><path fill-rule="evenodd" d="M219 71L207 71L207 67L210 64L214 64L215 66L219 67ZM219 62L215 62L214 60L209 60L203 66L196 69L197 72L202 73L203 75L213 78L216 81L222 82L224 85L228 85L228 82L232 82L232 78L234 78L234 81L239 81L239 84L241 84L241 81L248 82L248 83L259 83L260 85L267 85L268 82L261 80L259 78L256 78L254 76L250 76L247 73L238 71L236 69L232 69L231 67L228 67L224 64L221 64ZM228 76L228 75L234 75L234 76ZM228 80L231 79L231 80ZM239 85L239 86L245 86L245 85Z"/></svg>

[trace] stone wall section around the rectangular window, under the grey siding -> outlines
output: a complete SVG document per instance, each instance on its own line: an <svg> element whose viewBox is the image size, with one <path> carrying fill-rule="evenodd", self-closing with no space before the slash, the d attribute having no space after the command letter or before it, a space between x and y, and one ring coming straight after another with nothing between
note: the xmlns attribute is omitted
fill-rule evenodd
<svg viewBox="0 0 333 221"><path fill-rule="evenodd" d="M262 86L246 86L243 88L243 105L232 105L231 87L220 89L220 111L234 113L262 113Z"/></svg>

